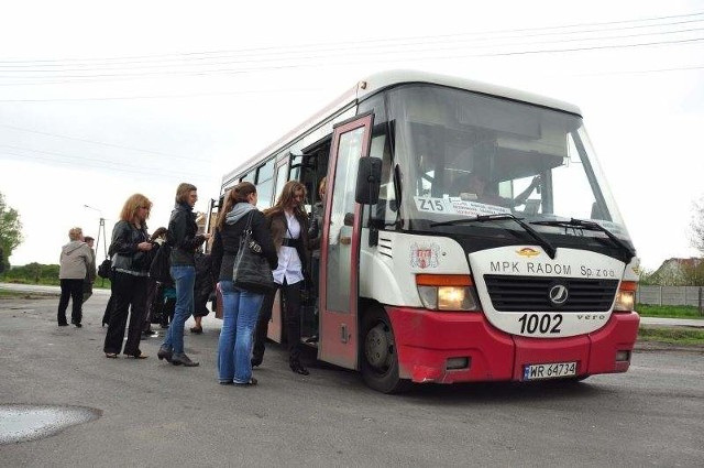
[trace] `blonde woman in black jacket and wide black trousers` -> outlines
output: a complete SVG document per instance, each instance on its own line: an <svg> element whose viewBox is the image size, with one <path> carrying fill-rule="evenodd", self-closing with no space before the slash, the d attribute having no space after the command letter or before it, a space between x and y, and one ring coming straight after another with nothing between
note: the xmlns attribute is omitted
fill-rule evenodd
<svg viewBox="0 0 704 468"><path fill-rule="evenodd" d="M110 251L112 255L112 294L114 307L110 314L103 351L107 358L114 359L122 350L124 328L130 315L128 340L124 355L134 359L144 359L140 350L142 324L146 308L148 285L150 251L152 242L146 232L152 202L142 194L134 194L124 203L120 220L112 229ZM131 307L131 313L130 313Z"/></svg>

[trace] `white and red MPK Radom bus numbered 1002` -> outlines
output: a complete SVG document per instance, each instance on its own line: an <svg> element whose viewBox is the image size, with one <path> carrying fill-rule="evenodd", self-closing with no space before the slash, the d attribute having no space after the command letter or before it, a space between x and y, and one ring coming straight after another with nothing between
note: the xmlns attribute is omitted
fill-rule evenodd
<svg viewBox="0 0 704 468"><path fill-rule="evenodd" d="M300 181L310 208L322 177L320 268L301 311L320 361L385 393L628 370L639 260L578 107L374 74L224 174L211 215L242 181L260 208ZM283 327L277 298L268 338Z"/></svg>

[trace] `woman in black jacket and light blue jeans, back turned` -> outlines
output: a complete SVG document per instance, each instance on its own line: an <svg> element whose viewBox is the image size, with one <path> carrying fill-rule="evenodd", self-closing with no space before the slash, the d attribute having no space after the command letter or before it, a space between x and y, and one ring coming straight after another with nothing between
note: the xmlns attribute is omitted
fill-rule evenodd
<svg viewBox="0 0 704 468"><path fill-rule="evenodd" d="M256 209L256 187L250 182L235 185L227 195L218 216L212 242L212 268L219 271L222 292L222 328L218 341L218 379L222 384L255 385L252 377L252 334L265 289L234 286L232 269L242 231L251 221L252 238L273 270L278 263L267 222Z"/></svg>

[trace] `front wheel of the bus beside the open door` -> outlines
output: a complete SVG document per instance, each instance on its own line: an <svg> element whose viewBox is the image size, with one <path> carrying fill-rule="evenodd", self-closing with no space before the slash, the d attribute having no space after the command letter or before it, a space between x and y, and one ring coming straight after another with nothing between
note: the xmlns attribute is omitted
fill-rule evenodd
<svg viewBox="0 0 704 468"><path fill-rule="evenodd" d="M399 393L410 382L398 378L398 355L394 330L386 313L371 309L362 323L362 377L364 382L383 393Z"/></svg>

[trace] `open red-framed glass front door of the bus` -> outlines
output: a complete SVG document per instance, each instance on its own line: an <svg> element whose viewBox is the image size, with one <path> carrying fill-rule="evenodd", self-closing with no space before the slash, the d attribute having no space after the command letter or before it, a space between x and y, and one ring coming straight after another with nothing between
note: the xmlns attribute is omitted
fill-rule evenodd
<svg viewBox="0 0 704 468"><path fill-rule="evenodd" d="M358 297L362 206L354 200L360 157L370 153L374 115L339 123L332 134L320 246L318 358L358 364Z"/></svg>

